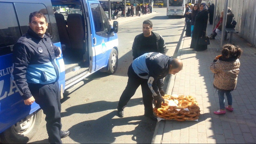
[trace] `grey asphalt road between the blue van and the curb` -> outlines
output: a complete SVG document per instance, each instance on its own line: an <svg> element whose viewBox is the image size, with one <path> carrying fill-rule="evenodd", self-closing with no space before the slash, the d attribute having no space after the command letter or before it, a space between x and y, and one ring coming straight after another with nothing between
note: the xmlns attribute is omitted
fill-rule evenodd
<svg viewBox="0 0 256 144"><path fill-rule="evenodd" d="M185 19L168 19L166 8L154 8L154 11L157 11L154 15L119 24L119 61L115 74L97 72L61 100L62 130L70 131L70 136L62 139L63 143L151 143L156 122L143 116L141 88L124 109L123 118L116 116L116 108L128 80L133 40L142 33L145 19L153 22L153 32L163 36L167 55L173 56L179 47ZM44 118L31 143L48 143Z"/></svg>

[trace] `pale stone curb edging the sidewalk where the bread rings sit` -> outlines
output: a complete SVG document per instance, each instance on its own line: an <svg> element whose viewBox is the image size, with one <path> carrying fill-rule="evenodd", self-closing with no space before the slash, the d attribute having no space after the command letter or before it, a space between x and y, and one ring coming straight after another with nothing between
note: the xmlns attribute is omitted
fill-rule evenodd
<svg viewBox="0 0 256 144"><path fill-rule="evenodd" d="M180 45L179 45L178 49L175 50L176 53L174 53L174 56L173 56L175 58L180 58L180 51L181 51L181 49L183 47L183 44L184 44L185 27L186 26L184 26L183 32L181 34L182 37L181 37ZM170 75L169 82L167 84L166 94L169 94L169 95L172 94L175 77L176 77L176 75L175 76ZM159 121L159 122L156 123L155 132L153 134L153 138L152 138L152 141L151 141L152 144L162 143L162 138L163 138L163 135L164 135L165 122L166 121Z"/></svg>

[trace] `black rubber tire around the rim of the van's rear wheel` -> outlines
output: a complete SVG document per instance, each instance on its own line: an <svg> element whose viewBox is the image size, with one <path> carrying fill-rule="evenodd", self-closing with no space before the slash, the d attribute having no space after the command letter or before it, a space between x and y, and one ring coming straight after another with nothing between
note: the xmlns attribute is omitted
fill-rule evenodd
<svg viewBox="0 0 256 144"><path fill-rule="evenodd" d="M16 124L6 129L0 134L1 143L27 143L36 134L42 120L42 113L42 110L39 110L29 115L35 118L32 119L31 123L33 123L33 125L31 125L32 127L28 128L29 131L25 135L17 133L17 131L14 129Z"/></svg>

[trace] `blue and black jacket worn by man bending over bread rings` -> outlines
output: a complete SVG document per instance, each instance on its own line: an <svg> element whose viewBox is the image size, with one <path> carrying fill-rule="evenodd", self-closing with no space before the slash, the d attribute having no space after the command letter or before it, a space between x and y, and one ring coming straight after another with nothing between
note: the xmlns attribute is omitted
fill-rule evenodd
<svg viewBox="0 0 256 144"><path fill-rule="evenodd" d="M159 89L163 86L163 79L169 74L169 66L173 58L162 53L145 53L132 62L132 68L137 76L148 79L148 87L153 96L161 96Z"/></svg>

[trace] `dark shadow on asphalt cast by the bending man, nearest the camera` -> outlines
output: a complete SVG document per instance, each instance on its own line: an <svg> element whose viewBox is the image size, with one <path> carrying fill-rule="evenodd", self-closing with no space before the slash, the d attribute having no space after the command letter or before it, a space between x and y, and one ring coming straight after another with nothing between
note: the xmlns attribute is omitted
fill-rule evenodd
<svg viewBox="0 0 256 144"><path fill-rule="evenodd" d="M70 131L69 137L78 143L113 143L116 137L133 135L132 140L137 143L151 142L156 125L155 121L148 120L144 116L114 118L116 113L117 111L114 110L96 120L84 121L73 125L68 129ZM132 131L123 131L123 126L132 125L138 126ZM146 131L142 131L145 127ZM148 141L145 141L145 137L148 137ZM124 140L123 143L127 142Z"/></svg>

